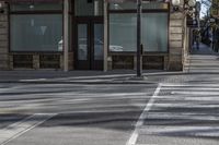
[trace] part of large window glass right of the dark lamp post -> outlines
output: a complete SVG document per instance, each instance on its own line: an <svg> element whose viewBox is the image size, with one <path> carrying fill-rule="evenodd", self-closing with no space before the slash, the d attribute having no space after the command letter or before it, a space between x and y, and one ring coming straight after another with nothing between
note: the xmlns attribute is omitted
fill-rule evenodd
<svg viewBox="0 0 219 145"><path fill-rule="evenodd" d="M141 32L145 51L168 51L168 13L143 13Z"/></svg>

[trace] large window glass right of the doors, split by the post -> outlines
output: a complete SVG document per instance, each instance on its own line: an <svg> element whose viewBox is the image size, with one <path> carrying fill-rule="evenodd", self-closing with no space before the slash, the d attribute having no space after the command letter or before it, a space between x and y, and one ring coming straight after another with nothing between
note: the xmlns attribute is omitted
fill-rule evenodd
<svg viewBox="0 0 219 145"><path fill-rule="evenodd" d="M110 51L136 51L136 13L110 14ZM145 51L168 51L168 13L142 14Z"/></svg>

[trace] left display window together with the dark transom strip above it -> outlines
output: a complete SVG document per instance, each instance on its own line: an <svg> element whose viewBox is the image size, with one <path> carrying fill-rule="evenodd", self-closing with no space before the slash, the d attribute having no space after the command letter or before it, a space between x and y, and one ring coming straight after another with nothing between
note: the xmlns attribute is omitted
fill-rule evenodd
<svg viewBox="0 0 219 145"><path fill-rule="evenodd" d="M62 3L12 3L10 47L11 51L62 51Z"/></svg>

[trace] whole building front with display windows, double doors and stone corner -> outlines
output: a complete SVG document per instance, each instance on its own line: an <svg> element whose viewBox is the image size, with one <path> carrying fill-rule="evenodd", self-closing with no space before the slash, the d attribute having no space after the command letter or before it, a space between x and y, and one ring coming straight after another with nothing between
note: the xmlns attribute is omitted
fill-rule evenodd
<svg viewBox="0 0 219 145"><path fill-rule="evenodd" d="M136 0L4 0L0 70L136 69ZM142 3L142 69L183 70L186 16Z"/></svg>

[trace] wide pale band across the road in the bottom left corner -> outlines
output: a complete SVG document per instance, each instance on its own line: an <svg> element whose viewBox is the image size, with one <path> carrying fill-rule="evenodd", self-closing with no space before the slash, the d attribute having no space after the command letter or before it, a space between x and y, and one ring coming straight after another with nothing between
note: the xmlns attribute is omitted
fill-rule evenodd
<svg viewBox="0 0 219 145"><path fill-rule="evenodd" d="M30 116L22 121L13 123L4 129L0 130L0 145L5 145L12 140L21 136L27 131L34 129L35 126L44 123L48 119L55 117L57 113L35 113Z"/></svg>

